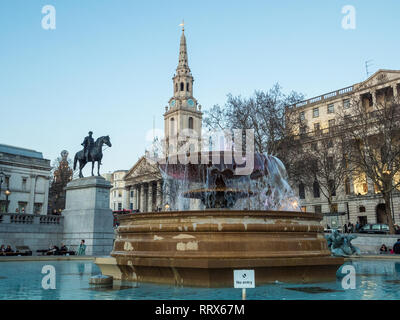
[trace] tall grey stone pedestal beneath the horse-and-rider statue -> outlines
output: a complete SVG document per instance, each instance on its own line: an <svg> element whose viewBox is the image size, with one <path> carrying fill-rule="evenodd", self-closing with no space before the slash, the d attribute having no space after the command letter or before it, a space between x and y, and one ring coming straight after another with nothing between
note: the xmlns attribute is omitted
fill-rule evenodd
<svg viewBox="0 0 400 320"><path fill-rule="evenodd" d="M86 255L109 255L114 239L110 209L111 184L103 177L76 179L67 184L64 242L77 249L82 239Z"/></svg>

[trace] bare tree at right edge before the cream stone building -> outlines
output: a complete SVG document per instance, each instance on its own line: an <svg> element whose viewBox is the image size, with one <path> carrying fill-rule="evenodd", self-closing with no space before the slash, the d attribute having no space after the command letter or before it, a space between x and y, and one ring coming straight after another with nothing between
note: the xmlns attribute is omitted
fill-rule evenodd
<svg viewBox="0 0 400 320"><path fill-rule="evenodd" d="M385 201L385 217L394 233L390 199L400 186L400 103L391 89L354 98L340 112L343 132L353 149L349 158L357 174L365 174Z"/></svg>

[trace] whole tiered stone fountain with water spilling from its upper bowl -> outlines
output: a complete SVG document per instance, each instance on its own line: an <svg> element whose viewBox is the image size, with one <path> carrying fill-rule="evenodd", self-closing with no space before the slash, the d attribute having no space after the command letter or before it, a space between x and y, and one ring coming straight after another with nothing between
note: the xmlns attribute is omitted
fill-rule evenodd
<svg viewBox="0 0 400 320"><path fill-rule="evenodd" d="M96 259L103 274L203 287L231 287L235 269L254 269L257 284L335 279L343 258L331 256L322 215L299 209L279 159L254 153L244 175L250 160L235 152L194 156L160 163L176 210L121 216L111 258ZM191 199L203 209L183 210Z"/></svg>

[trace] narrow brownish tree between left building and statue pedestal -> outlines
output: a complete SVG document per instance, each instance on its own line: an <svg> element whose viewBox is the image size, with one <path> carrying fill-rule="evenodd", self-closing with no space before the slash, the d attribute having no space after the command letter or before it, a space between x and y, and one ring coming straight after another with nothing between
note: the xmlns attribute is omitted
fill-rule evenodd
<svg viewBox="0 0 400 320"><path fill-rule="evenodd" d="M74 171L72 170L72 160L68 158L68 152L62 151L61 157L54 160L52 175L50 178L49 205L48 213L54 210L65 209L65 190L67 183L72 180Z"/></svg>

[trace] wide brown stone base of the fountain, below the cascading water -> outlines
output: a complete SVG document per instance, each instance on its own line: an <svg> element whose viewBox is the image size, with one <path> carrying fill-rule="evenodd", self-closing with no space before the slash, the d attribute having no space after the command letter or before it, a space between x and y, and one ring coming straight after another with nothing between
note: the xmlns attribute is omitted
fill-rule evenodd
<svg viewBox="0 0 400 320"><path fill-rule="evenodd" d="M256 283L332 280L322 215L303 212L168 211L120 217L112 258L97 259L114 279L188 286L233 286L233 270Z"/></svg>

